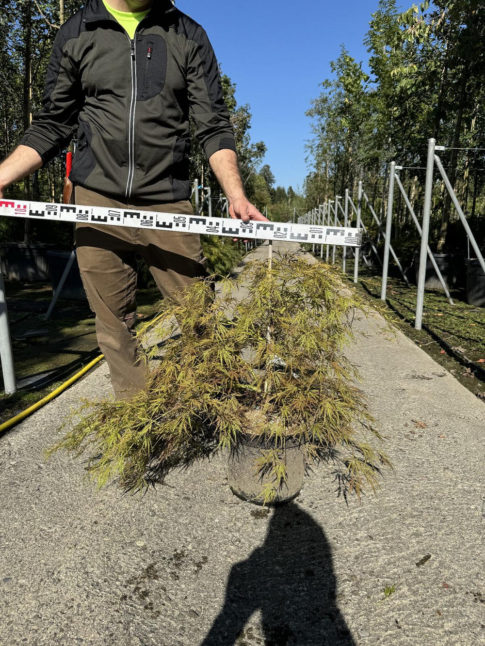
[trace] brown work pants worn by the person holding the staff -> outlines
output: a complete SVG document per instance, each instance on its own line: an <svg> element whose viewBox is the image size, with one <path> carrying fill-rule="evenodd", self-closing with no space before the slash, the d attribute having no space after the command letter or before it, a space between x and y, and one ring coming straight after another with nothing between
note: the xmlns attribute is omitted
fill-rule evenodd
<svg viewBox="0 0 485 646"><path fill-rule="evenodd" d="M80 186L76 204L193 214L188 201L140 206L116 202ZM136 258L146 262L158 289L176 298L195 278L206 276L206 258L195 233L153 231L113 225L76 225L81 278L92 311L96 335L111 371L116 397L130 397L146 386L147 366L133 335L136 322Z"/></svg>

